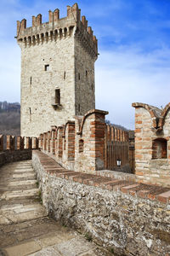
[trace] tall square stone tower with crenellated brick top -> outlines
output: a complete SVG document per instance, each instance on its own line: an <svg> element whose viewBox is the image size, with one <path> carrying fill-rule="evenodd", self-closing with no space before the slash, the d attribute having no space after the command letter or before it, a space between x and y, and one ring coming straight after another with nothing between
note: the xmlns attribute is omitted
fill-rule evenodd
<svg viewBox="0 0 170 256"><path fill-rule="evenodd" d="M77 3L17 21L21 49L21 136L37 137L51 125L63 125L95 108L94 62L97 39Z"/></svg>

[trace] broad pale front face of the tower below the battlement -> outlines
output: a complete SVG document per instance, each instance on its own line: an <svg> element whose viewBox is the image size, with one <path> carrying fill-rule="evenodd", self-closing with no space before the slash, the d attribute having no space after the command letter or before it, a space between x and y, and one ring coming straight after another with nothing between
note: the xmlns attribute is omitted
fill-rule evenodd
<svg viewBox="0 0 170 256"><path fill-rule="evenodd" d="M21 136L38 137L75 114L74 37L26 48L22 44L21 56ZM59 107L52 106L56 89Z"/></svg>

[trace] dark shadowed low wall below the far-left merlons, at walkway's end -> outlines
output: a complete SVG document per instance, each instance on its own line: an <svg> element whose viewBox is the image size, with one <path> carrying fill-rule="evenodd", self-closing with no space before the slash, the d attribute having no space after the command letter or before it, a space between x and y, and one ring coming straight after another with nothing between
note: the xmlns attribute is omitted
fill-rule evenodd
<svg viewBox="0 0 170 256"><path fill-rule="evenodd" d="M20 161L20 160L31 160L31 149L23 150L6 150L0 152L0 166L4 164Z"/></svg>

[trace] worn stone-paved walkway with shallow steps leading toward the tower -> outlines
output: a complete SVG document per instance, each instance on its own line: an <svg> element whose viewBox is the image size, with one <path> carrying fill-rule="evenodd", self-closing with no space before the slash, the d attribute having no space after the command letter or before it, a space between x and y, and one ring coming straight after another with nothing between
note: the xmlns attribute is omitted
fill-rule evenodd
<svg viewBox="0 0 170 256"><path fill-rule="evenodd" d="M31 160L0 168L0 255L113 255L48 218Z"/></svg>

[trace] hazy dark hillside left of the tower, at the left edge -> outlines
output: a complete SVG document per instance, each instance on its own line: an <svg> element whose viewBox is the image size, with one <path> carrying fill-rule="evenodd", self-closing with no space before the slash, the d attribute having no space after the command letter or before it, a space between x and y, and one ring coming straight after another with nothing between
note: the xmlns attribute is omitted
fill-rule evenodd
<svg viewBox="0 0 170 256"><path fill-rule="evenodd" d="M0 134L20 136L20 103L0 102Z"/></svg>

